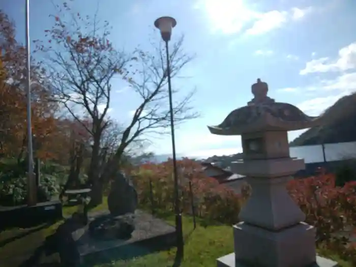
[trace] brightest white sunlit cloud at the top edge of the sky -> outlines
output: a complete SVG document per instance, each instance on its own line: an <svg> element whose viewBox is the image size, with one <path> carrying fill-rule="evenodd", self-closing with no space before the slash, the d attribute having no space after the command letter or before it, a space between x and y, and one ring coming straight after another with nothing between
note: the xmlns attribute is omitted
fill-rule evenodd
<svg viewBox="0 0 356 267"><path fill-rule="evenodd" d="M311 8L292 8L288 11L271 10L265 13L250 9L243 0L198 0L194 8L203 10L213 32L239 33L247 23L253 23L246 34L258 35L281 27L288 20L300 20Z"/></svg>

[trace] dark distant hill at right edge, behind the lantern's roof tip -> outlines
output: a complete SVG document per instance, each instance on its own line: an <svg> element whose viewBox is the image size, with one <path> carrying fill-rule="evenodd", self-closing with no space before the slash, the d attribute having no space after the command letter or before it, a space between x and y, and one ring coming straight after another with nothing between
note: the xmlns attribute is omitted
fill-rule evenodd
<svg viewBox="0 0 356 267"><path fill-rule="evenodd" d="M356 141L356 93L340 98L324 115L326 125L302 133L290 146Z"/></svg>

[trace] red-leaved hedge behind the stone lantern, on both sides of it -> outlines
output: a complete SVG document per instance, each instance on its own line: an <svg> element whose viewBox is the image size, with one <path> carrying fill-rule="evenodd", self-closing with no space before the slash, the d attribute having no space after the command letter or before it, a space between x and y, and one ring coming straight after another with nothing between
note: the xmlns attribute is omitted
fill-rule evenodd
<svg viewBox="0 0 356 267"><path fill-rule="evenodd" d="M191 212L190 182L198 216L227 224L238 222L240 205L251 193L248 185L242 188L241 195L236 195L207 177L199 163L183 159L178 166L184 213ZM153 199L156 209L173 210L171 161L143 164L134 178L142 205L151 206ZM356 182L336 187L335 176L321 170L316 176L290 181L287 190L306 214L306 222L315 226L320 251L332 252L356 265L356 245L352 243L352 234L356 233Z"/></svg>

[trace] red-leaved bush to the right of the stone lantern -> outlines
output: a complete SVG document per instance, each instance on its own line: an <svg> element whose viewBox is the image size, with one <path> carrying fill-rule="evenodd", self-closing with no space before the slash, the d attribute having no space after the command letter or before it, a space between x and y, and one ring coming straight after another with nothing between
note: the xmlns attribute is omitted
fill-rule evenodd
<svg viewBox="0 0 356 267"><path fill-rule="evenodd" d="M316 244L356 264L356 182L335 186L335 175L321 172L292 180L287 189L316 228Z"/></svg>

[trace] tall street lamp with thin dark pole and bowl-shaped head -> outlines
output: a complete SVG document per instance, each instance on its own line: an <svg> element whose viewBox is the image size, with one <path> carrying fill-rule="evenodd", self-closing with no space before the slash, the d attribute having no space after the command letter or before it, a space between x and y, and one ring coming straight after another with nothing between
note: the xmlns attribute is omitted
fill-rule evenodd
<svg viewBox="0 0 356 267"><path fill-rule="evenodd" d="M177 163L175 156L175 138L174 138L174 120L173 120L173 104L172 104L172 88L170 82L170 65L169 65L169 52L168 41L172 34L172 28L177 24L172 17L160 17L156 19L155 26L159 28L163 41L166 44L166 58L167 58L167 78L168 78L168 95L169 95L169 113L170 113L170 130L172 138L172 154L173 154L173 179L174 179L174 213L175 213L175 231L177 234L177 250L183 256L183 225L182 214L180 210L179 188L178 188L178 175Z"/></svg>

